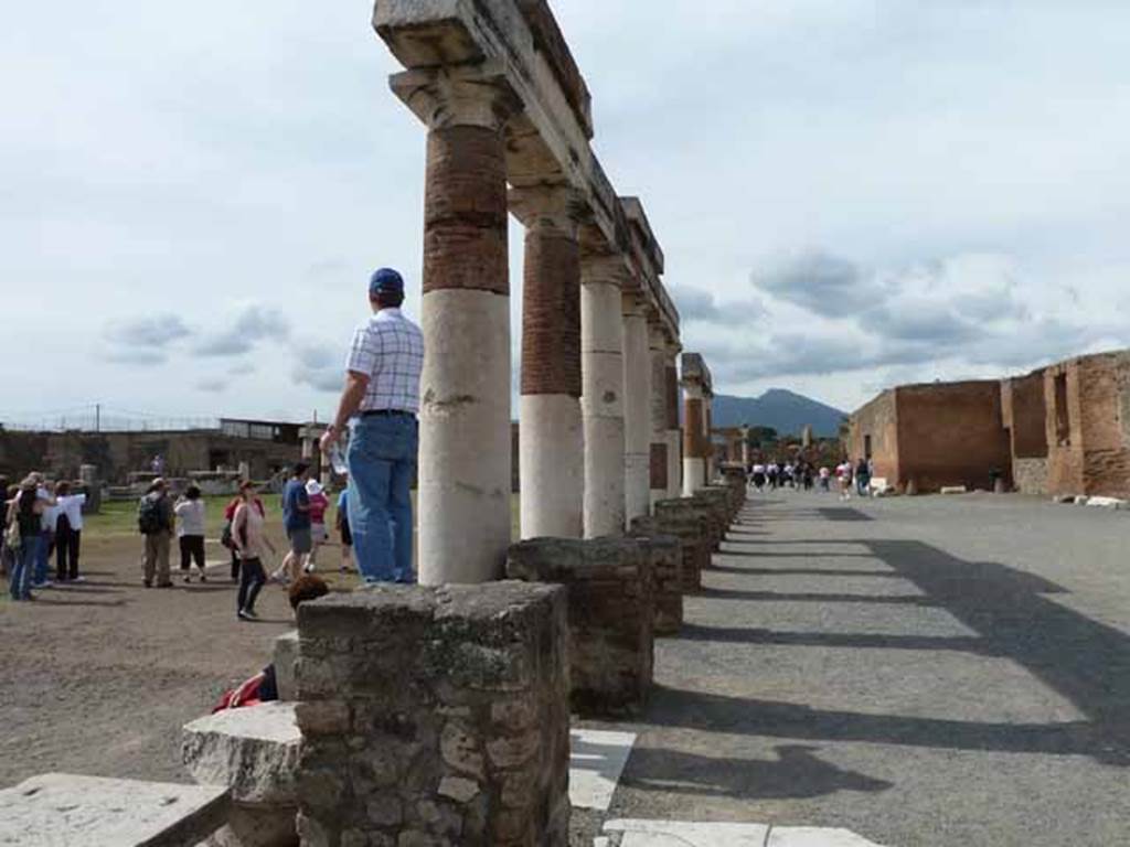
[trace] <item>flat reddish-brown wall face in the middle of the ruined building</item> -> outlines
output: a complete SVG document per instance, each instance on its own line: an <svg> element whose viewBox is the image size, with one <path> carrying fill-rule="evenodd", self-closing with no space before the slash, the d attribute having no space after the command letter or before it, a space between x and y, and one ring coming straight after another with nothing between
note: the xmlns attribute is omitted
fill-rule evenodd
<svg viewBox="0 0 1130 847"><path fill-rule="evenodd" d="M1011 454L997 381L909 385L895 390L903 479L918 491L992 488L990 471L1011 482Z"/></svg>

